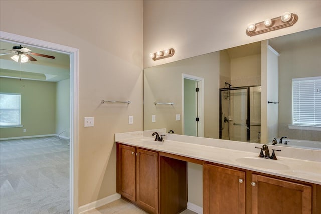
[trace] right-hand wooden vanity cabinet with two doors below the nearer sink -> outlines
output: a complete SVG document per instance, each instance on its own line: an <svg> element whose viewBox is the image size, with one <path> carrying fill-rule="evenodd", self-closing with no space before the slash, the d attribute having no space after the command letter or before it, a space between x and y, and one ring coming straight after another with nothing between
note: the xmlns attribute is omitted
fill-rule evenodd
<svg viewBox="0 0 321 214"><path fill-rule="evenodd" d="M320 185L203 164L204 214L316 214L320 210Z"/></svg>

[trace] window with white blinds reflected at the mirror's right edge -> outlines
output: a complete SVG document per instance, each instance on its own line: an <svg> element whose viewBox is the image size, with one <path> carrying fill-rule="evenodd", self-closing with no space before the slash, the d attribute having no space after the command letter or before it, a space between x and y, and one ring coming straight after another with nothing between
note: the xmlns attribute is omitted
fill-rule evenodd
<svg viewBox="0 0 321 214"><path fill-rule="evenodd" d="M321 77L295 78L293 125L321 127Z"/></svg>

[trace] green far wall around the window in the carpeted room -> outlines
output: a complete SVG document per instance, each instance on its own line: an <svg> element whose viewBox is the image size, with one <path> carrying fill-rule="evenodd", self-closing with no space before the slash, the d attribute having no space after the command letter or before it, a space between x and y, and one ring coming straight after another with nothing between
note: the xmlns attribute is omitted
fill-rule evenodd
<svg viewBox="0 0 321 214"><path fill-rule="evenodd" d="M56 83L0 78L0 92L21 94L21 125L0 128L0 138L55 134ZM26 129L26 132L23 132Z"/></svg>

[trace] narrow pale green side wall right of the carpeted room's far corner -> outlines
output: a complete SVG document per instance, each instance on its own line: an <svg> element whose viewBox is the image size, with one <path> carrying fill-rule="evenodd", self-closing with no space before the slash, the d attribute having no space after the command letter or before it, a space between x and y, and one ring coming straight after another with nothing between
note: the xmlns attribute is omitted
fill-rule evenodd
<svg viewBox="0 0 321 214"><path fill-rule="evenodd" d="M70 89L69 79L56 83L56 134L70 137Z"/></svg>

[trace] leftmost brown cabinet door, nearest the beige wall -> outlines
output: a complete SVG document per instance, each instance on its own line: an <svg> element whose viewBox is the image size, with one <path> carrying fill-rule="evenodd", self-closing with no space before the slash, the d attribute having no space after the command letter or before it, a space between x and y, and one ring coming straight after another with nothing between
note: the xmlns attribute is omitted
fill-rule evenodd
<svg viewBox="0 0 321 214"><path fill-rule="evenodd" d="M136 199L136 149L117 144L117 192L129 200Z"/></svg>

